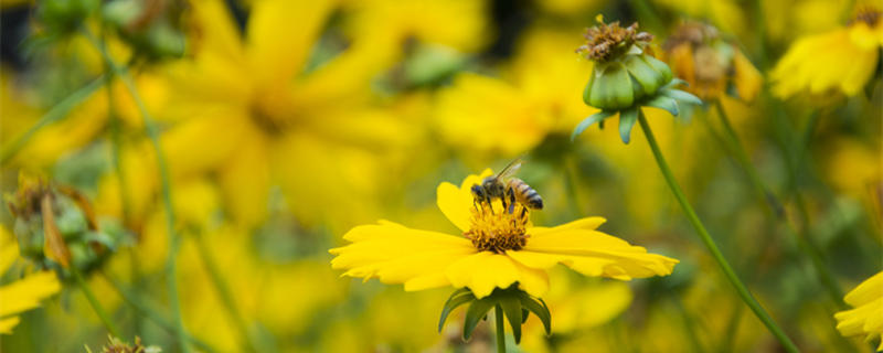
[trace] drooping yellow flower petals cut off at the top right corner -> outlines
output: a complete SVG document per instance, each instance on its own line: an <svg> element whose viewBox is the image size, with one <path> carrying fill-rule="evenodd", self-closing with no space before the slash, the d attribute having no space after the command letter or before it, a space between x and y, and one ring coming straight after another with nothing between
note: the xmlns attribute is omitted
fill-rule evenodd
<svg viewBox="0 0 883 353"><path fill-rule="evenodd" d="M876 72L883 46L883 12L865 7L845 26L795 42L770 73L773 93L839 92L854 96Z"/></svg>

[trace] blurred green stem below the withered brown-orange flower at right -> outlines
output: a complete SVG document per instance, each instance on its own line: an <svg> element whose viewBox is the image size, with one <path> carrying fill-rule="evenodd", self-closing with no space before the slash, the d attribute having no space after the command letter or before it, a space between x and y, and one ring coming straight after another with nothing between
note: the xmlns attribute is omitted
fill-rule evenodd
<svg viewBox="0 0 883 353"><path fill-rule="evenodd" d="M715 101L714 106L717 110L717 117L721 119L721 125L724 127L724 132L730 141L733 154L735 154L740 167L742 167L742 170L748 175L748 181L754 188L755 193L766 205L764 211L766 212L767 217L774 221L781 221L785 224L785 231L797 242L798 248L802 250L807 257L809 257L812 267L816 270L816 275L819 277L819 281L821 281L822 286L825 286L828 293L831 296L831 299L833 299L833 301L842 309L844 307L843 291L840 289L840 285L837 284L831 270L825 265L825 259L821 255L822 252L813 242L809 239L809 235L806 234L806 232L800 234L795 229L795 226L785 215L785 210L781 206L781 203L778 202L778 199L776 199L776 196L769 192L769 189L760 180L757 169L751 162L748 153L745 151L745 147L743 147L742 142L740 141L738 135L733 128L733 125L730 122L730 118L727 117L726 111L724 111L721 101ZM807 227L805 227L805 229Z"/></svg>

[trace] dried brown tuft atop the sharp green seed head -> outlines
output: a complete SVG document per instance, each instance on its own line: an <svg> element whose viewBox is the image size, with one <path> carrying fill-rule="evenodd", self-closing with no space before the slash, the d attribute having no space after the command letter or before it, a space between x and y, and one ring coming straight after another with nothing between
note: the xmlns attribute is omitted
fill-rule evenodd
<svg viewBox="0 0 883 353"><path fill-rule="evenodd" d="M619 25L619 21L609 25L604 23L602 17L597 18L598 24L586 29L583 35L586 44L576 49L576 53L582 54L595 62L606 62L627 53L632 45L642 45L653 40L653 35L647 32L638 32L638 23L631 23L627 28Z"/></svg>

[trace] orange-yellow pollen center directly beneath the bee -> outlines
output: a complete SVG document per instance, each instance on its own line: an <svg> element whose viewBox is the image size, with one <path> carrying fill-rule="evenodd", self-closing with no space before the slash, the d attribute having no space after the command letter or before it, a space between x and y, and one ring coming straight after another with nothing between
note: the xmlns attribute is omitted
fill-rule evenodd
<svg viewBox="0 0 883 353"><path fill-rule="evenodd" d="M513 208L510 213L485 203L477 205L472 208L471 226L464 236L472 240L479 252L502 254L521 249L528 243L530 211L521 204Z"/></svg>

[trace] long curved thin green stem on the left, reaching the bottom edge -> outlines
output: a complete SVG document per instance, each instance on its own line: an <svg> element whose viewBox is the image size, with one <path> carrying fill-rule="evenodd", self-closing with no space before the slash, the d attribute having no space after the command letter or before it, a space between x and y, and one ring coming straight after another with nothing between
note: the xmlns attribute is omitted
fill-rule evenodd
<svg viewBox="0 0 883 353"><path fill-rule="evenodd" d="M169 246L169 256L166 259L166 280L169 287L169 303L172 309L172 317L175 327L175 335L178 336L178 343L181 345L182 352L190 352L190 346L187 344L187 340L184 339L184 323L181 319L181 302L178 298L178 281L175 277L177 272L177 261L175 258L178 256L178 249L181 246L181 237L177 235L174 225L174 208L172 203L172 191L169 181L169 170L168 165L166 164L166 157L162 153L162 148L159 145L159 132L157 131L156 122L153 121L150 111L147 110L147 106L145 105L143 99L141 99L141 95L138 93L138 88L135 87L135 82L131 79L128 71L125 67L118 65L114 62L114 58L107 53L107 49L102 45L92 32L88 29L83 28L82 30L83 35L95 46L104 57L107 65L114 72L114 74L119 77L123 84L126 86L126 89L131 95L131 98L135 100L138 110L141 114L141 119L145 125L145 130L147 130L147 136L150 139L150 145L153 147L153 152L156 153L157 158L157 167L159 169L159 176L160 176L160 189L162 194L162 204L166 207L166 232L169 235L170 246Z"/></svg>

